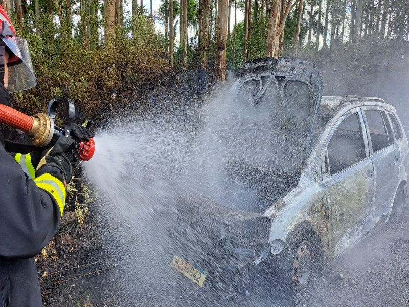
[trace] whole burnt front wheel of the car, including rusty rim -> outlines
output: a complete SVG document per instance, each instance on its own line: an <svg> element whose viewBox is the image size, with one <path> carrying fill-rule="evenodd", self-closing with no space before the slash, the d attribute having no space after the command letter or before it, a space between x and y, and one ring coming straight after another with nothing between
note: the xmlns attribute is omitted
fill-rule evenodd
<svg viewBox="0 0 409 307"><path fill-rule="evenodd" d="M282 284L285 295L295 301L305 297L322 267L321 240L314 231L299 230L283 250Z"/></svg>

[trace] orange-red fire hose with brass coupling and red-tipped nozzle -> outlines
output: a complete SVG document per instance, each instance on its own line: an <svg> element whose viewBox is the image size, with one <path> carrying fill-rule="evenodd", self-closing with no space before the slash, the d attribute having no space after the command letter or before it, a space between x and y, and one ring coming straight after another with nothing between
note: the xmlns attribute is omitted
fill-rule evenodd
<svg viewBox="0 0 409 307"><path fill-rule="evenodd" d="M56 125L56 111L60 105L65 106L67 110L64 128ZM70 135L71 124L76 114L78 114L78 110L74 101L64 97L56 97L50 100L47 114L38 113L34 116L26 115L0 104L0 122L27 133L31 143L39 147L53 144L62 136L73 138ZM90 128L92 124L92 121L88 121L87 128ZM83 161L90 160L95 151L94 139L91 138L89 142L75 139L74 141L78 149L78 158Z"/></svg>

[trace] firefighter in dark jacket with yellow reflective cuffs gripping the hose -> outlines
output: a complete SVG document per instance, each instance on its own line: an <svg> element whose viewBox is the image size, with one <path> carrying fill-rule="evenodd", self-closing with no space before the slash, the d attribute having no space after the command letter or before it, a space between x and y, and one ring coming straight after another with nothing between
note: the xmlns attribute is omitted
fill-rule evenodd
<svg viewBox="0 0 409 307"><path fill-rule="evenodd" d="M0 103L10 106L9 91L29 89L36 80L27 42L16 37L1 6L0 22ZM93 136L80 125L73 134ZM0 131L0 307L42 306L34 256L57 232L72 177L73 142L62 137L42 155L13 158Z"/></svg>

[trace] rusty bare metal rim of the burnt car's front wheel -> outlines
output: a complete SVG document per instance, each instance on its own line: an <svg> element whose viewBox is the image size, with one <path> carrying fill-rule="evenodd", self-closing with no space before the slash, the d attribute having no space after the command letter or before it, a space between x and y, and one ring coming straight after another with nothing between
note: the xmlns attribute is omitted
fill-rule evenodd
<svg viewBox="0 0 409 307"><path fill-rule="evenodd" d="M300 244L292 265L292 286L297 296L304 296L311 284L312 257L306 241Z"/></svg>

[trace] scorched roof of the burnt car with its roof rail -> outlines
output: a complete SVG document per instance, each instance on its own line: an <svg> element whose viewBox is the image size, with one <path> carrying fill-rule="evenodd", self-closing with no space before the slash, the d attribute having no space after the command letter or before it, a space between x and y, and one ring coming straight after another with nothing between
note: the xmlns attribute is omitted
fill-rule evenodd
<svg viewBox="0 0 409 307"><path fill-rule="evenodd" d="M359 103L360 102L360 103ZM378 97L361 97L356 95L349 96L323 96L321 98L320 108L318 114L320 116L332 117L342 107L359 103L360 105L383 105L387 107L388 104L383 99Z"/></svg>

